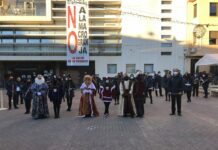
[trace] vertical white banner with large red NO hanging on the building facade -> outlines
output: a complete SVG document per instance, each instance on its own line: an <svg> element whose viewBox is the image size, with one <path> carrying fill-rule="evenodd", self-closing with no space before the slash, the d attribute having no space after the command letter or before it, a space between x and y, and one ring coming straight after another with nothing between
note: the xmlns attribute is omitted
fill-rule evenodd
<svg viewBox="0 0 218 150"><path fill-rule="evenodd" d="M66 0L66 8L67 66L88 66L88 0Z"/></svg>

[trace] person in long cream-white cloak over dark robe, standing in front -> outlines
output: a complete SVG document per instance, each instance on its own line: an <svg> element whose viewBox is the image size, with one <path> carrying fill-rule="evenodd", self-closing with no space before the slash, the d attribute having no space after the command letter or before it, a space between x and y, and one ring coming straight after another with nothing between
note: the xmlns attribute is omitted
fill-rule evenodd
<svg viewBox="0 0 218 150"><path fill-rule="evenodd" d="M123 80L120 83L120 94L122 96L119 104L119 115L127 117L130 115L132 118L135 117L135 105L132 98L133 82L127 74L124 75Z"/></svg>

